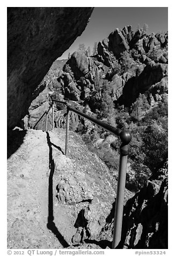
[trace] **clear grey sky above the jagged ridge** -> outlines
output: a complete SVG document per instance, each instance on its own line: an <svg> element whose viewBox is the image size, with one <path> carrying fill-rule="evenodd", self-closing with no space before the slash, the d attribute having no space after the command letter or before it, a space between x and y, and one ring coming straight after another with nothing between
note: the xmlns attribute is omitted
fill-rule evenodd
<svg viewBox="0 0 175 256"><path fill-rule="evenodd" d="M95 7L90 22L74 44L58 59L67 59L68 53L76 51L79 44L93 48L94 42L99 42L114 31L116 28L123 29L132 25L135 31L137 25L142 27L148 24L149 33L168 30L168 8L167 7Z"/></svg>

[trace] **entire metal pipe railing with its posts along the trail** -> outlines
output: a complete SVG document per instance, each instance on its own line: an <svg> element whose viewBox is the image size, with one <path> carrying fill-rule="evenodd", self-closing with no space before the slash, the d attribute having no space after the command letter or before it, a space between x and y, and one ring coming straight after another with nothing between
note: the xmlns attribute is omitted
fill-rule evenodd
<svg viewBox="0 0 175 256"><path fill-rule="evenodd" d="M72 108L72 106L69 102L57 101L56 99L52 99L52 105L41 116L41 118L42 118L46 114L46 131L47 131L48 113L51 108L52 108L52 128L54 129L55 102L62 103L65 106L67 106L67 121L66 121L66 134L65 134L65 157L68 157L70 111L73 111L73 112L77 113L77 115L90 120L92 123L97 124L98 126L102 127L106 131L113 134L113 136L120 138L120 140L121 140L118 186L117 186L117 191L116 191L115 216L114 216L114 232L113 232L113 242L112 242L112 248L114 249L114 248L116 248L116 246L119 245L119 242L121 240L123 203L124 203L124 195L125 195L126 170L127 170L127 158L128 158L129 143L132 139L132 136L131 136L130 132L127 130L121 130L121 129L113 127L109 124L106 124L105 122L103 122L101 120L93 118L75 108ZM40 122L41 118L33 126L33 129Z"/></svg>

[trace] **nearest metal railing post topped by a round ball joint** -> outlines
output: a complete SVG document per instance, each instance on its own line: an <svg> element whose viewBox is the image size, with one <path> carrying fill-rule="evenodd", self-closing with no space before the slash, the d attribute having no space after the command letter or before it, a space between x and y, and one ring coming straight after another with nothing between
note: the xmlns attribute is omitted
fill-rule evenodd
<svg viewBox="0 0 175 256"><path fill-rule="evenodd" d="M128 158L129 142L131 140L130 133L128 131L122 131L120 133L120 139L122 141L122 144L120 146L119 176L118 176L118 186L116 191L114 232L113 232L113 242L112 242L113 249L116 248L116 246L118 246L121 240L127 158Z"/></svg>

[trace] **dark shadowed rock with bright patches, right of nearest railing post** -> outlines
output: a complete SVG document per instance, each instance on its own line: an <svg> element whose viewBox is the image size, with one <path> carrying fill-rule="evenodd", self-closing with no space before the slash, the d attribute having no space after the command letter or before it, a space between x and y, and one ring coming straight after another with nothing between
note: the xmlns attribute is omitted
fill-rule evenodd
<svg viewBox="0 0 175 256"><path fill-rule="evenodd" d="M167 248L167 162L156 180L148 181L127 202L120 247Z"/></svg>

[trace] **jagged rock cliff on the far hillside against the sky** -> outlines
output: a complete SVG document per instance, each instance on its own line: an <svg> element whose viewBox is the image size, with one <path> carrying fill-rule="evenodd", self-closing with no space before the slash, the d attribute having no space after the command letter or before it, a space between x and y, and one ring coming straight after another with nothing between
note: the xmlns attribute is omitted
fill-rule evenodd
<svg viewBox="0 0 175 256"><path fill-rule="evenodd" d="M97 113L101 103L110 99L116 105L130 107L140 94L147 95L150 108L167 100L167 33L135 33L131 26L116 29L108 38L98 43L98 54L88 56L76 51L64 62L62 68L50 68L40 84L45 88L40 104L29 108L28 125L48 108L49 93L57 99L68 99L77 105L89 106ZM62 62L63 63L63 62ZM104 91L107 91L105 95ZM47 91L47 96L45 92ZM106 97L106 98L105 98ZM45 101L41 107L42 101ZM38 109L42 108L42 111ZM41 127L40 127L41 128Z"/></svg>

